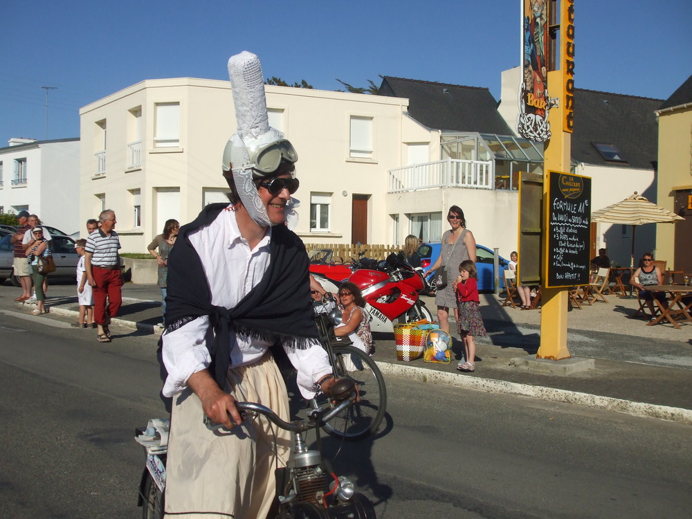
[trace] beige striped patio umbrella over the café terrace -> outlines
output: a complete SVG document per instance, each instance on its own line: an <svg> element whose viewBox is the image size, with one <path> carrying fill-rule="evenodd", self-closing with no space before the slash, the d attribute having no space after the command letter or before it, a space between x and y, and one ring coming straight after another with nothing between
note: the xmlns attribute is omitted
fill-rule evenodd
<svg viewBox="0 0 692 519"><path fill-rule="evenodd" d="M592 212L591 220L601 221L604 224L632 226L632 256L630 258L630 267L632 267L635 264L636 226L644 224L672 224L676 220L684 220L684 218L666 208L657 206L635 191L635 194L623 201Z"/></svg>

